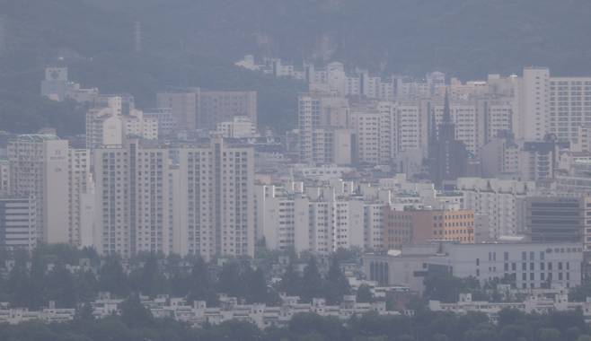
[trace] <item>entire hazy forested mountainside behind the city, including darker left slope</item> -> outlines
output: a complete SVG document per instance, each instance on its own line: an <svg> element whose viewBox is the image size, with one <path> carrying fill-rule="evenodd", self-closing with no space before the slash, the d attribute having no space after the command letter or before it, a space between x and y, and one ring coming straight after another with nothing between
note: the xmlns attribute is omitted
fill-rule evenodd
<svg viewBox="0 0 591 341"><path fill-rule="evenodd" d="M591 74L587 0L0 0L0 17L0 124L20 132L61 119L48 119L50 103L38 96L43 67L57 57L73 80L130 92L141 107L167 86L256 90L260 122L280 129L293 126L304 84L234 67L245 54L464 79L526 65ZM81 120L66 118L84 109L60 105L60 133L83 132Z"/></svg>

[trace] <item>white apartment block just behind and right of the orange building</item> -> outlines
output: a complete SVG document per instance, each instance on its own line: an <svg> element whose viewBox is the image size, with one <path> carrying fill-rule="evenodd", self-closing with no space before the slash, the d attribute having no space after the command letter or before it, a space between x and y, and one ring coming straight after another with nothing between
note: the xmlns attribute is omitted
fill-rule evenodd
<svg viewBox="0 0 591 341"><path fill-rule="evenodd" d="M460 178L457 189L463 194L463 209L488 216L488 236L481 238L491 241L523 233L518 201L537 194L533 181L503 179Z"/></svg>

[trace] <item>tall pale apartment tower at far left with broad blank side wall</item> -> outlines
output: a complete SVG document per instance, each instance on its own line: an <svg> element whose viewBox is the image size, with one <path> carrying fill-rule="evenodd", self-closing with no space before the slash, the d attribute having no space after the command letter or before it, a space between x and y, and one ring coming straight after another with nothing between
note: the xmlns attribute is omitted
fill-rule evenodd
<svg viewBox="0 0 591 341"><path fill-rule="evenodd" d="M11 192L36 199L37 237L67 243L69 151L66 140L50 135L22 135L8 144Z"/></svg>

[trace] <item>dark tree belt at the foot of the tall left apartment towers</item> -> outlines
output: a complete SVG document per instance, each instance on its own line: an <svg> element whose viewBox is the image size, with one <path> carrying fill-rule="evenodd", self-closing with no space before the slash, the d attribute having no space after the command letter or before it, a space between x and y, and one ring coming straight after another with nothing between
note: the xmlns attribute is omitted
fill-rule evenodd
<svg viewBox="0 0 591 341"><path fill-rule="evenodd" d="M189 302L206 301L209 306L218 304L220 294L246 303L275 305L280 302L279 293L300 295L304 302L325 298L331 304L351 293L337 257L328 273L322 275L316 258L309 256L303 275L290 265L275 286L268 284L269 259L230 259L217 267L198 257L145 254L122 262L116 256L100 258L93 249L66 245L41 246L31 257L16 253L0 258L13 259L10 271L0 276L0 302L30 309L46 306L49 301L56 302L57 307L80 307L101 292L119 298L169 294L186 297ZM77 267L81 259L83 266ZM363 291L362 298L371 300Z"/></svg>

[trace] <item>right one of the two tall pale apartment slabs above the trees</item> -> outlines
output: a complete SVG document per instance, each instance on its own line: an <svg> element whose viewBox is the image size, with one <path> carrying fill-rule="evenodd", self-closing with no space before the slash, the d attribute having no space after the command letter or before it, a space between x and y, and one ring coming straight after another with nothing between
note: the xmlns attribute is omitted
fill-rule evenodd
<svg viewBox="0 0 591 341"><path fill-rule="evenodd" d="M254 255L254 154L251 147L211 144L179 150L178 253Z"/></svg>

